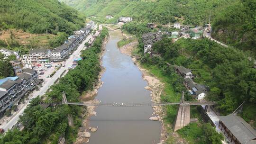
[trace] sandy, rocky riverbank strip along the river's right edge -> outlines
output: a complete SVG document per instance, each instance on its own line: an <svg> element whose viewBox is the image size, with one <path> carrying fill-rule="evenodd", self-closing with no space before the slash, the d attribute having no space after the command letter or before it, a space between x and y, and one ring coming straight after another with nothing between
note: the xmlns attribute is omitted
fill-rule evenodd
<svg viewBox="0 0 256 144"><path fill-rule="evenodd" d="M124 35L125 36L125 35ZM137 48L138 42L134 41L127 45L120 47L120 52L122 54L127 54L132 57L132 61L136 64L138 69L142 72L143 80L146 80L148 85L145 87L146 90L150 90L151 101L153 103L161 102L161 94L164 90L165 84L153 76L148 70L144 69L137 59L132 55L133 51ZM161 122L161 134L160 142L166 140L167 129L164 125L163 117L166 115L165 110L162 106L152 106L154 112L152 113L153 117L150 117L152 120L158 120Z"/></svg>

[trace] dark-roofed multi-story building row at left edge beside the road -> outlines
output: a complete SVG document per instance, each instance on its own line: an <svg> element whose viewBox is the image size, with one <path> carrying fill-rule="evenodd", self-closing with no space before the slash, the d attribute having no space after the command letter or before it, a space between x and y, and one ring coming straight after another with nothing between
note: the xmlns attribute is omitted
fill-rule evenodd
<svg viewBox="0 0 256 144"><path fill-rule="evenodd" d="M0 79L0 115L37 85L37 71L23 69L18 76Z"/></svg>

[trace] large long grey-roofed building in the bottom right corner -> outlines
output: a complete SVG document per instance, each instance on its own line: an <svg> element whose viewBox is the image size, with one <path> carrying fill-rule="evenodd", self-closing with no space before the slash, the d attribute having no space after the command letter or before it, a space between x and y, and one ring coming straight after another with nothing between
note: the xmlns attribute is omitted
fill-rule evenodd
<svg viewBox="0 0 256 144"><path fill-rule="evenodd" d="M256 132L242 117L229 114L219 117L219 129L231 144L256 144Z"/></svg>

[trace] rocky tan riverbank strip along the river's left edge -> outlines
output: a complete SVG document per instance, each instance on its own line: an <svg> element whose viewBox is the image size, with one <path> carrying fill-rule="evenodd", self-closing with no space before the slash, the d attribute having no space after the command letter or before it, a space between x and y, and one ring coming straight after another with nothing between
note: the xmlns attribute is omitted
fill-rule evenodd
<svg viewBox="0 0 256 144"><path fill-rule="evenodd" d="M101 45L101 53L100 55L100 63L102 65L102 56L105 54L105 47L106 44L109 40L109 37L106 37ZM103 82L101 81L101 77L102 74L106 71L106 69L101 66L101 72L99 72L98 75L98 80L93 84L93 88L92 90L87 90L85 92L82 93L80 100L83 103L99 103L99 101L97 99L94 99L95 95L98 93L98 89L101 88ZM90 125L90 117L91 116L96 116L97 113L95 111L95 106L87 106L86 108L83 108L82 113L81 113L81 117L82 117L82 126L79 128L79 132L78 132L78 137L76 138L76 141L74 144L84 144L84 143L89 143L89 132L91 130L91 126ZM97 131L98 127L95 127L95 131ZM92 130L91 130L92 132ZM85 134L87 134L88 136L85 136Z"/></svg>

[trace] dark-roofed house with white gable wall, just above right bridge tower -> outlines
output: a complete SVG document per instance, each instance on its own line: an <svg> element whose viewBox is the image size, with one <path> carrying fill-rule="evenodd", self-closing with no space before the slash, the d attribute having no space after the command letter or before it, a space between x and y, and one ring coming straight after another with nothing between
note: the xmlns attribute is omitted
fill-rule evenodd
<svg viewBox="0 0 256 144"><path fill-rule="evenodd" d="M206 86L195 83L192 78L185 78L184 85L189 90L190 94L197 96L198 100L203 100L209 91Z"/></svg>

